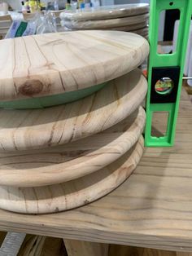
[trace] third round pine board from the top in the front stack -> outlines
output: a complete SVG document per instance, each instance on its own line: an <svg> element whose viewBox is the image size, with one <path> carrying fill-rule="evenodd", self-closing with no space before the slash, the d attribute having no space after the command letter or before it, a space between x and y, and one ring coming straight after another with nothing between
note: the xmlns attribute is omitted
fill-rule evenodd
<svg viewBox="0 0 192 256"><path fill-rule="evenodd" d="M0 184L40 187L77 179L116 161L137 142L145 125L142 107L116 126L64 146L0 154Z"/></svg>

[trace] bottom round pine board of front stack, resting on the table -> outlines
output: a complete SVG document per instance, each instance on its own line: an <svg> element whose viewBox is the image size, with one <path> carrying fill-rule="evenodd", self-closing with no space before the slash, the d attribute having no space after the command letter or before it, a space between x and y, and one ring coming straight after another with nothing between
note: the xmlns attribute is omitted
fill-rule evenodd
<svg viewBox="0 0 192 256"><path fill-rule="evenodd" d="M123 157L80 179L39 188L0 186L0 208L23 214L48 214L87 205L120 186L136 168L142 152L140 138Z"/></svg>

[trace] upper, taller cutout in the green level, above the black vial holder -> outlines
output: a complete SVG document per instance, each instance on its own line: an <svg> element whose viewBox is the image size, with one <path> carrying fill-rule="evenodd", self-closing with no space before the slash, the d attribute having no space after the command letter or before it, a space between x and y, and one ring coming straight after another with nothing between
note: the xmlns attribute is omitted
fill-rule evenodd
<svg viewBox="0 0 192 256"><path fill-rule="evenodd" d="M169 4L173 6L174 2ZM159 55L172 54L177 51L180 15L179 9L160 12L157 42L157 53Z"/></svg>

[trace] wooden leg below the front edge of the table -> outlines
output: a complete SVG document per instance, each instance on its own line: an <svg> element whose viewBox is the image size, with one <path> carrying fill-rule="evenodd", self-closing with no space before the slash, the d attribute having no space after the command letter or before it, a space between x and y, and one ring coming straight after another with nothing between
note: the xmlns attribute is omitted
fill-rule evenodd
<svg viewBox="0 0 192 256"><path fill-rule="evenodd" d="M108 245L87 241L64 240L68 256L108 256Z"/></svg>

